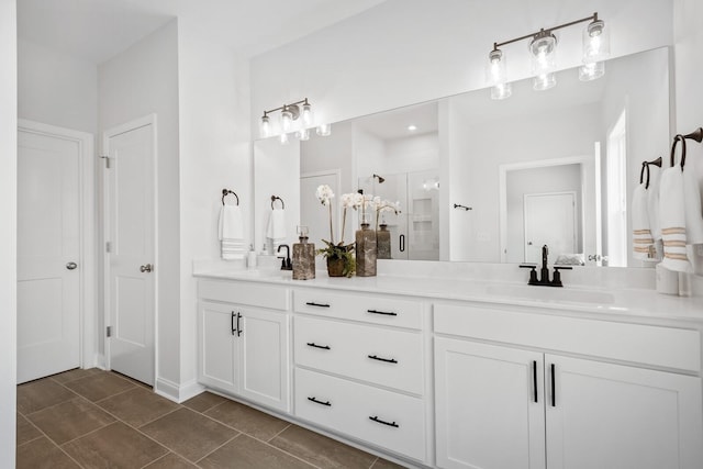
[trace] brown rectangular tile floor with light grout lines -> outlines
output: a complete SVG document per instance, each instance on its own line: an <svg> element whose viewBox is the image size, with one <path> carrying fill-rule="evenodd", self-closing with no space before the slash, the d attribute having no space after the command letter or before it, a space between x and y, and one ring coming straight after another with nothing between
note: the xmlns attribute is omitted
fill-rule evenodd
<svg viewBox="0 0 703 469"><path fill-rule="evenodd" d="M118 373L70 370L18 387L18 468L398 468L205 392L182 405Z"/></svg>

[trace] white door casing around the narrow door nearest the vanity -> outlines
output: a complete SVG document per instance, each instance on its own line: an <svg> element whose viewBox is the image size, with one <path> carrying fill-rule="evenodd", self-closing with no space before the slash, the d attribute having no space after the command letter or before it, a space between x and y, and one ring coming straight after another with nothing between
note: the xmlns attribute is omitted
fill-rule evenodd
<svg viewBox="0 0 703 469"><path fill-rule="evenodd" d="M156 113L152 113L145 115L143 118L137 118L133 121L125 122L123 124L116 125L114 127L108 129L102 132L102 155L110 154L110 138L118 136L120 134L135 131L137 129L145 127L147 125L152 125L152 143L153 143L153 154L154 158L152 161L153 165L153 175L154 175L154 233L153 233L153 243L154 243L154 261L153 264L156 266L154 269L154 377L153 381L156 386L156 377L158 376L158 284L159 284L159 269L158 269L158 126L157 126L157 115ZM110 198L111 193L110 187L110 178L108 177L108 172L102 170L102 180L103 180L103 238L107 237L108 234L111 233L110 228ZM107 239L103 239L103 242ZM103 298L103 316L104 316L104 325L105 327L110 324L110 255L103 248L103 288L104 288L104 298ZM104 369L110 370L110 340L107 339L104 342L104 353L102 356L102 365Z"/></svg>

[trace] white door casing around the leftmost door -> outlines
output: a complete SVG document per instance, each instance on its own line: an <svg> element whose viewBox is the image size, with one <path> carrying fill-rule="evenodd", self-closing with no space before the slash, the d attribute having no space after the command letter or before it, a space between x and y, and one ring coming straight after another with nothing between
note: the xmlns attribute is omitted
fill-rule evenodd
<svg viewBox="0 0 703 469"><path fill-rule="evenodd" d="M92 368L97 365L96 320L97 303L97 257L96 257L96 180L93 135L87 132L43 124L41 122L18 119L18 131L75 142L78 145L79 198L80 198L80 367Z"/></svg>

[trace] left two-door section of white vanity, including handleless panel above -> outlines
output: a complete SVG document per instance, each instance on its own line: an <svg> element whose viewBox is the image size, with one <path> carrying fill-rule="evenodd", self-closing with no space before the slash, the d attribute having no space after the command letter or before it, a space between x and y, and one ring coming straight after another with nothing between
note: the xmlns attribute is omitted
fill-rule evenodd
<svg viewBox="0 0 703 469"><path fill-rule="evenodd" d="M216 280L198 287L199 382L288 412L289 291Z"/></svg>

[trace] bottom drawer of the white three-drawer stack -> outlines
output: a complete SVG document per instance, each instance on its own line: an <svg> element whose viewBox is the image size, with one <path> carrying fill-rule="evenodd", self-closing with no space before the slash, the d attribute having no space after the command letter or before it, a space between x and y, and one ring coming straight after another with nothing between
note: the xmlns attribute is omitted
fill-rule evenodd
<svg viewBox="0 0 703 469"><path fill-rule="evenodd" d="M425 409L422 399L297 368L295 415L425 460Z"/></svg>

